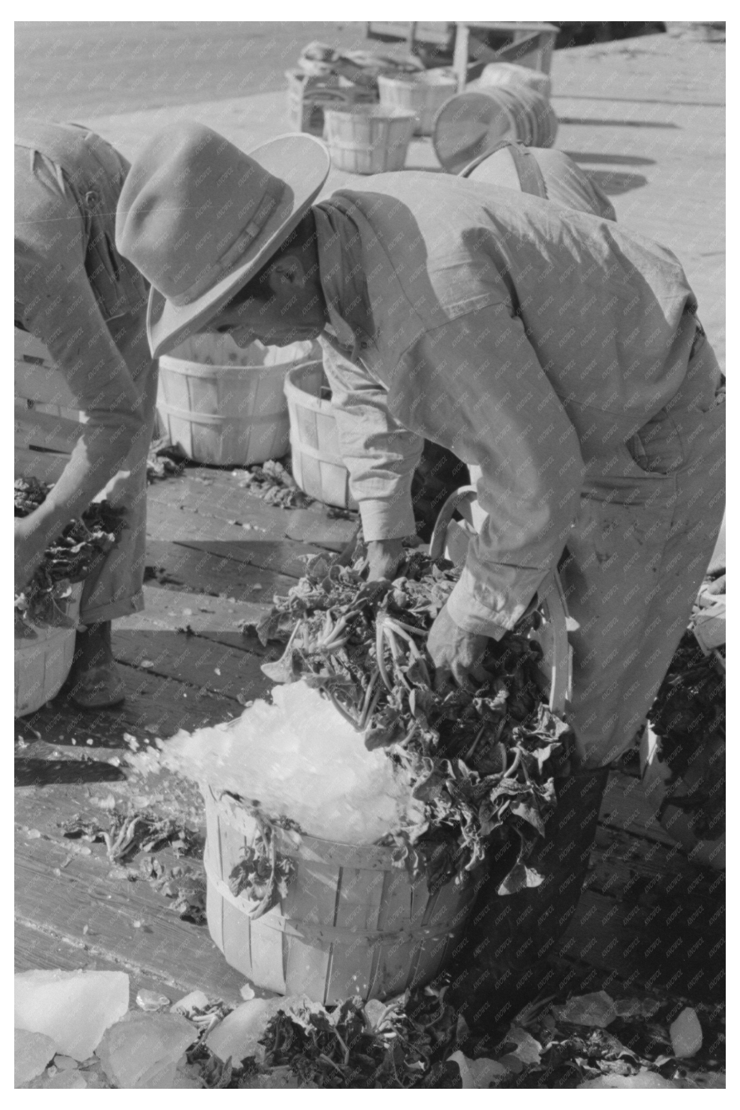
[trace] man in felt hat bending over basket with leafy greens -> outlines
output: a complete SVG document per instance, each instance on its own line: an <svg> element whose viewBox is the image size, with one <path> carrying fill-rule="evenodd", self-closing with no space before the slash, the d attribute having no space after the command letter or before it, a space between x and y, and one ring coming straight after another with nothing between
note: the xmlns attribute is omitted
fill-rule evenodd
<svg viewBox="0 0 740 1110"><path fill-rule="evenodd" d="M372 577L393 576L415 531L424 438L477 467L486 516L428 639L438 683L473 688L488 639L559 571L578 623L574 750L534 854L545 881L506 898L487 884L453 983L468 1021L489 1002L500 1018L546 987L606 768L640 729L710 559L721 374L676 258L611 220L410 171L312 205L327 169L305 135L247 157L181 124L134 163L116 242L152 282L153 355L195 330L318 337Z"/></svg>

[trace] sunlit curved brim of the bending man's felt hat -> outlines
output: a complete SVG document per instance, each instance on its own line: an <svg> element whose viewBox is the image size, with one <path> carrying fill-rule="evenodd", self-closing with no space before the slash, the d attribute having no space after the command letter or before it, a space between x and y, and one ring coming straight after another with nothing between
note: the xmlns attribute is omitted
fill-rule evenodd
<svg viewBox="0 0 740 1110"><path fill-rule="evenodd" d="M312 135L280 135L249 151L265 170L285 184L285 200L270 216L239 266L190 304L178 305L152 286L146 310L146 334L152 357L172 351L200 331L242 285L260 272L306 214L328 176L331 160Z"/></svg>

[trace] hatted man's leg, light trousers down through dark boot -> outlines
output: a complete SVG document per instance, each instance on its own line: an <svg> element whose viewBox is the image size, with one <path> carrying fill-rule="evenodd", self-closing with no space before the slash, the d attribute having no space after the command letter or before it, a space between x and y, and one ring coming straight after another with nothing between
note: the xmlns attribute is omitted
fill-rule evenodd
<svg viewBox="0 0 740 1110"><path fill-rule="evenodd" d="M510 1020L547 991L547 956L578 904L605 765L632 741L689 620L724 504L723 406L706 340L677 403L643 431L640 465L625 448L621 480L591 481L560 576L579 629L569 718L584 769L555 780L557 808L530 857L545 876L513 896L491 869L453 966L452 1001L472 1026ZM474 478L475 481L475 478Z"/></svg>

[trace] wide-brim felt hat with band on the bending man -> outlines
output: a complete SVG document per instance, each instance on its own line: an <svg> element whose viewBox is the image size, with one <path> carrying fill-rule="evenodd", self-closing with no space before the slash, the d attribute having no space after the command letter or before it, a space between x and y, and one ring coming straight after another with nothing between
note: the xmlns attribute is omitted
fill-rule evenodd
<svg viewBox="0 0 740 1110"><path fill-rule="evenodd" d="M326 181L320 139L278 135L244 153L196 123L154 135L133 162L115 243L151 282L153 357L203 329L270 261Z"/></svg>

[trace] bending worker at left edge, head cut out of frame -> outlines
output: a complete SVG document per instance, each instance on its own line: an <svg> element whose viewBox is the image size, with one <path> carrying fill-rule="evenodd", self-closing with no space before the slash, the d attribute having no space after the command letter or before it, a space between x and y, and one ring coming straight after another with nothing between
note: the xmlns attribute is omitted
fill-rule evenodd
<svg viewBox="0 0 740 1110"><path fill-rule="evenodd" d="M84 581L83 627L68 683L69 697L90 709L123 700L111 620L144 604L156 362L146 342L149 284L115 249L115 205L128 170L110 143L78 124L27 121L16 139L17 336L21 347L27 333L41 341L54 367L43 371L42 400L53 403L61 387L61 405L69 405L71 392L82 417L57 421L55 430L75 440L71 457L43 504L16 521L16 588L28 584L48 545L104 492L122 528Z"/></svg>

